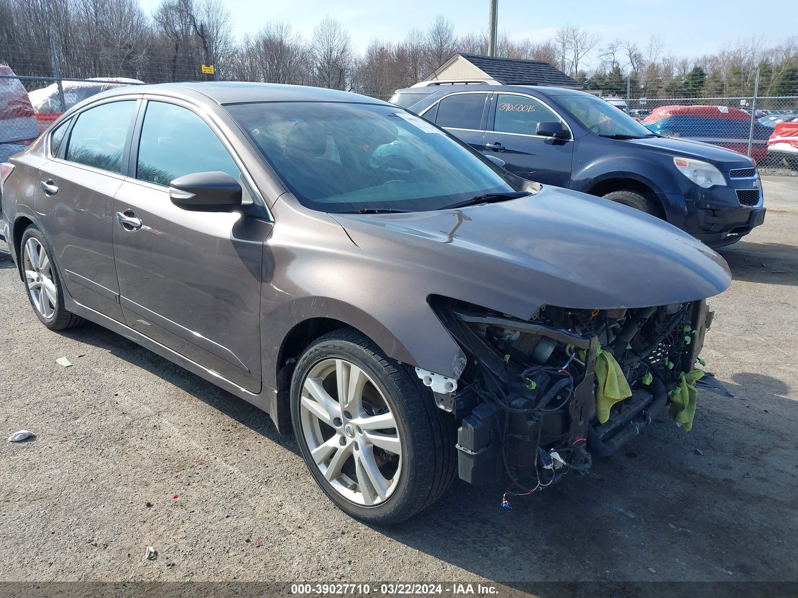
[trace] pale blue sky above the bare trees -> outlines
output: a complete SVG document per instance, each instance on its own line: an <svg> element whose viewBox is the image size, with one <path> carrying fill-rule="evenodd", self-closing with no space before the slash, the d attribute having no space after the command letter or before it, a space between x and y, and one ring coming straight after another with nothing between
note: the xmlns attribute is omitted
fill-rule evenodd
<svg viewBox="0 0 798 598"><path fill-rule="evenodd" d="M330 14L350 31L357 49L365 49L374 37L398 41L411 27L429 26L437 14L450 19L457 33L485 29L488 22L488 0L224 2L233 14L239 36L254 33L270 19L288 21L295 30L309 35L318 20ZM145 10L153 10L159 3L160 0L141 0ZM752 7L756 10L752 11ZM750 0L499 0L499 30L507 31L511 37L542 40L571 22L602 33L603 41L621 37L642 46L651 33L659 33L666 43L666 53L697 56L714 53L724 42L741 37L778 41L795 35L795 9L795 0L769 0L762 5Z"/></svg>

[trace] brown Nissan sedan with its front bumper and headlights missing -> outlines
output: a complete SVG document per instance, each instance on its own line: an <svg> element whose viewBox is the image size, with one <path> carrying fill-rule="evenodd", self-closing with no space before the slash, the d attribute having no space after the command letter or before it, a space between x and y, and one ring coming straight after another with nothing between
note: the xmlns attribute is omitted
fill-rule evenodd
<svg viewBox="0 0 798 598"><path fill-rule="evenodd" d="M101 93L0 181L43 325L96 322L254 403L377 523L456 474L512 494L584 474L668 403L691 419L674 388L730 281L666 222L329 89Z"/></svg>

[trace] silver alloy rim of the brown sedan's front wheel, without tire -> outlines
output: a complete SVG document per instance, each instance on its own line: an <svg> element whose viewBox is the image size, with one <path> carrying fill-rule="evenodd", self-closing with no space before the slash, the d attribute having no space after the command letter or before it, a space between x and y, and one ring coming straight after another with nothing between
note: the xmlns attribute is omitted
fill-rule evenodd
<svg viewBox="0 0 798 598"><path fill-rule="evenodd" d="M358 505L378 505L396 490L401 439L385 396L357 365L326 359L302 383L302 432L330 486Z"/></svg>

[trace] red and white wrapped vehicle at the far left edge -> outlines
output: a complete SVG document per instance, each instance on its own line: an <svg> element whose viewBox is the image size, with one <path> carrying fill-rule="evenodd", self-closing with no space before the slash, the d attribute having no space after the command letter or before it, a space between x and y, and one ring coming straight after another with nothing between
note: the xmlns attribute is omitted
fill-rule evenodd
<svg viewBox="0 0 798 598"><path fill-rule="evenodd" d="M0 65L0 75L14 76L14 71ZM25 85L19 79L0 78L0 162L27 148L38 136Z"/></svg>

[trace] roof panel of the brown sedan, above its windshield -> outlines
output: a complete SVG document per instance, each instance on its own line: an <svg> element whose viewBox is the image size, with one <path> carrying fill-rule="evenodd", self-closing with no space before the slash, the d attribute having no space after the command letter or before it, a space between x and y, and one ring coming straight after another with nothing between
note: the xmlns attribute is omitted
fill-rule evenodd
<svg viewBox="0 0 798 598"><path fill-rule="evenodd" d="M131 85L103 92L102 97L131 93L158 93L168 96L190 96L197 94L214 100L217 104L242 104L247 102L358 102L388 104L383 100L358 93L342 92L307 85L282 85L279 83L248 83L244 81L188 81L185 83L160 83L156 85ZM98 94L94 97L100 97Z"/></svg>

